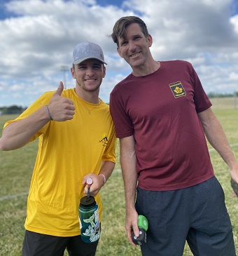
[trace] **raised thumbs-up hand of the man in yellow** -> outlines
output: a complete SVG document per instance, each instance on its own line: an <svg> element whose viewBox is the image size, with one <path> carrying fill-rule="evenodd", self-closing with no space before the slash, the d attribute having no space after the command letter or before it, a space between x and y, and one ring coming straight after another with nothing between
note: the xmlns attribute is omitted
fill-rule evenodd
<svg viewBox="0 0 238 256"><path fill-rule="evenodd" d="M62 91L64 90L64 84L62 81L59 83L59 88L52 95L52 98L48 104L50 116L54 121L67 121L73 119L75 107L73 101L62 97Z"/></svg>

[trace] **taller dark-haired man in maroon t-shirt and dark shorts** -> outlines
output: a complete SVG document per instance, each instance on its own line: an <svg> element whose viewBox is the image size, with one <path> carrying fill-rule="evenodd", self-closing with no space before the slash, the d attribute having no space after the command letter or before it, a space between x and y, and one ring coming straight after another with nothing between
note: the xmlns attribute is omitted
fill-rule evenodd
<svg viewBox="0 0 238 256"><path fill-rule="evenodd" d="M205 135L236 182L238 163L193 66L155 61L153 39L138 17L120 18L111 36L132 67L110 100L120 138L130 243L132 228L139 236L139 214L149 223L142 255L183 255L187 240L194 255L235 256L230 217Z"/></svg>

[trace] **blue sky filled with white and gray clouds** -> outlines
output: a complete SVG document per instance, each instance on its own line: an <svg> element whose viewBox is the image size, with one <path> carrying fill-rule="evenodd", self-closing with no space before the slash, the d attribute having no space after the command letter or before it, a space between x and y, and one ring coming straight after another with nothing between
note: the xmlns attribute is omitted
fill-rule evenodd
<svg viewBox="0 0 238 256"><path fill-rule="evenodd" d="M59 81L73 88L72 52L81 41L104 50L100 97L109 102L131 72L110 37L125 15L146 22L155 60L190 61L207 93L238 91L237 0L0 0L0 107L27 107Z"/></svg>

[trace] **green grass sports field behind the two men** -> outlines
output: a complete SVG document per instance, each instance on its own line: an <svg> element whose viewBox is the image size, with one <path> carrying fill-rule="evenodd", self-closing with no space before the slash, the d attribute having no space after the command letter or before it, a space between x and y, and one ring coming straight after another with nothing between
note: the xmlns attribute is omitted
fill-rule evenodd
<svg viewBox="0 0 238 256"><path fill-rule="evenodd" d="M221 102L219 103L221 106ZM238 109L223 109L214 107L214 112L221 121L228 141L238 159ZM3 123L15 116L0 116L0 130ZM1 131L0 131L1 135ZM24 238L24 222L26 203L31 173L36 158L37 142L15 151L0 151L0 255L20 256ZM209 145L211 161L216 177L225 191L225 202L232 220L235 246L238 253L238 199L232 198L230 173ZM119 149L118 149L119 151ZM117 153L118 154L118 153ZM97 256L139 256L140 249L134 249L127 242L125 235L125 200L123 179L120 163L102 188L102 203L104 206L102 220L102 237L97 248ZM67 253L65 253L67 255ZM186 244L183 256L192 253ZM224 255L226 256L226 255Z"/></svg>

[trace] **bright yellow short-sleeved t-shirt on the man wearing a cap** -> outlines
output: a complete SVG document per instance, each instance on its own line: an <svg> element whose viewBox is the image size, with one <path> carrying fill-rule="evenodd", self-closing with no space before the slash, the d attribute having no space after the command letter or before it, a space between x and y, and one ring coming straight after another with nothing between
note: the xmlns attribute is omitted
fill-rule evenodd
<svg viewBox="0 0 238 256"><path fill-rule="evenodd" d="M44 93L13 121L47 105L53 93ZM85 102L74 89L64 90L62 96L73 100L76 107L73 119L50 121L31 139L38 137L38 154L29 189L25 228L52 236L77 236L80 234L78 204L85 196L83 176L98 174L102 161L115 163L116 134L109 106L102 100L98 105ZM99 194L95 199L101 220Z"/></svg>

